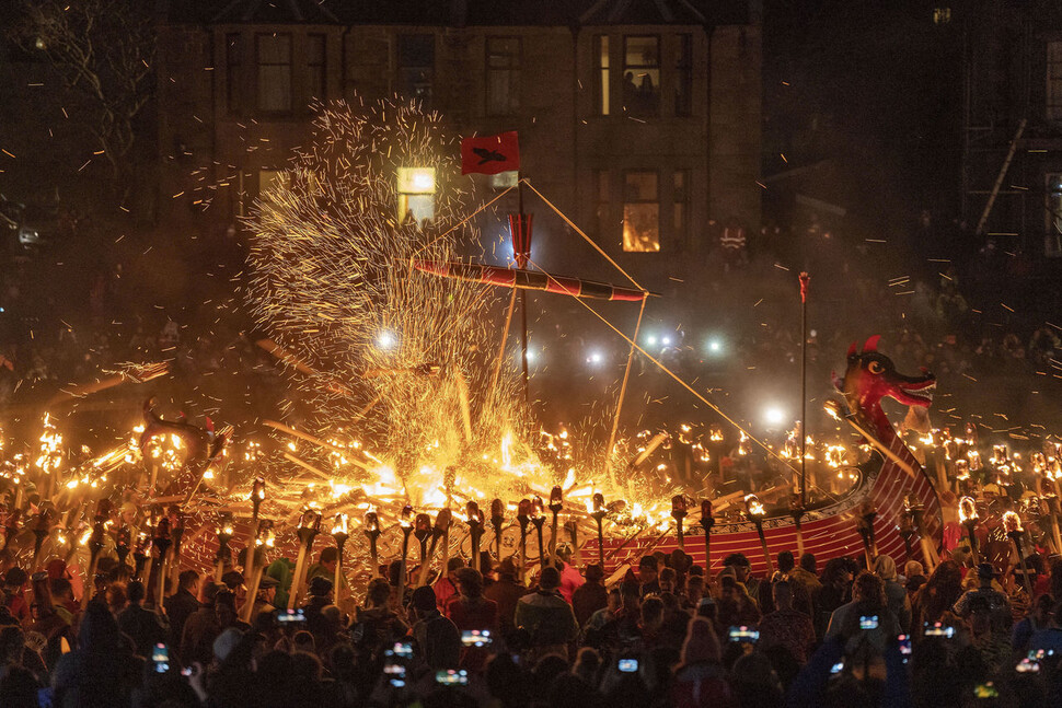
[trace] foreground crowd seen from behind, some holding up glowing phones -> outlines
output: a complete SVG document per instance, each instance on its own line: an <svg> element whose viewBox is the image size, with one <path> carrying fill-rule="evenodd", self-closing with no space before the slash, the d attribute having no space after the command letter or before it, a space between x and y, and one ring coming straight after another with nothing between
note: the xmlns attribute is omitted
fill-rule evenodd
<svg viewBox="0 0 1062 708"><path fill-rule="evenodd" d="M452 557L336 597L335 548L304 599L270 565L193 569L155 607L131 566L91 596L60 559L30 577L3 554L0 705L56 706L1048 706L1062 698L1062 560L1027 558L1032 595L956 554L926 577L892 558L784 550L771 577L740 553L707 571L682 550L611 578L570 549L535 569ZM472 559L470 559L472 560ZM869 567L868 567L869 566ZM482 570L481 570L482 568ZM415 573L411 573L411 579ZM301 595L299 595L301 597ZM246 606L245 603L251 603ZM289 605L292 605L289 607Z"/></svg>

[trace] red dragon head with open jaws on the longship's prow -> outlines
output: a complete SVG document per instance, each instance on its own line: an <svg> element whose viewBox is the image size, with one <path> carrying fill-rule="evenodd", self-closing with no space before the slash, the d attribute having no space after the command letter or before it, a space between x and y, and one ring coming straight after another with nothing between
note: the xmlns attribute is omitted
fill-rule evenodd
<svg viewBox="0 0 1062 708"><path fill-rule="evenodd" d="M921 376L898 373L892 360L878 353L880 338L875 335L867 339L862 351L856 351L854 341L849 347L849 368L844 372L844 379L834 382L844 394L849 409L867 416L874 409L880 408L881 398L886 396L904 406L927 408L933 401L936 376L925 369Z"/></svg>

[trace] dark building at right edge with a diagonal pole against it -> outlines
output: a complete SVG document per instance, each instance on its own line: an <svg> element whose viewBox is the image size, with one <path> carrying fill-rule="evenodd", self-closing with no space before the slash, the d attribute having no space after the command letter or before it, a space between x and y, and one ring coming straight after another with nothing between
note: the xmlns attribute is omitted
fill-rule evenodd
<svg viewBox="0 0 1062 708"><path fill-rule="evenodd" d="M982 1L963 33L962 216L1037 270L1062 265L1062 8Z"/></svg>

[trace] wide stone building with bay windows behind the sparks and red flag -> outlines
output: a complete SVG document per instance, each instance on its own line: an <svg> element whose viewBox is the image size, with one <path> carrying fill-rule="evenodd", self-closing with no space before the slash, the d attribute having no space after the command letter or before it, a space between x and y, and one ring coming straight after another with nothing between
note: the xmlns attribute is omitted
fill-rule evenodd
<svg viewBox="0 0 1062 708"><path fill-rule="evenodd" d="M517 130L522 175L650 272L703 257L711 222L759 223L754 4L209 4L174 3L160 27L164 218L231 222L303 144L314 101L397 94L460 135ZM536 231L565 230L532 209Z"/></svg>

